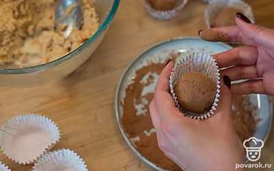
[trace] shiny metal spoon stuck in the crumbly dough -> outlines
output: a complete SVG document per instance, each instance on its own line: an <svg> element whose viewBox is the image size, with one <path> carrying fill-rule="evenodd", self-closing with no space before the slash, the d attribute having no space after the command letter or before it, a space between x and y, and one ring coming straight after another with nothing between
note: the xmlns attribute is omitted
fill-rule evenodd
<svg viewBox="0 0 274 171"><path fill-rule="evenodd" d="M80 29L83 24L82 5L79 0L59 0L55 7L55 29L69 37L73 28Z"/></svg>

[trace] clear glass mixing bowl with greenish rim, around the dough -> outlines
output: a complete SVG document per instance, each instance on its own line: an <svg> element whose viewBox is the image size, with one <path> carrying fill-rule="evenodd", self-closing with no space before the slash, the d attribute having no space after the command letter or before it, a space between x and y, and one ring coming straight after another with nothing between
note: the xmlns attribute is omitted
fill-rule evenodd
<svg viewBox="0 0 274 171"><path fill-rule="evenodd" d="M47 64L29 68L0 68L0 86L29 87L38 86L60 79L82 65L97 49L116 13L120 0L95 1L99 16L99 29L80 47Z"/></svg>

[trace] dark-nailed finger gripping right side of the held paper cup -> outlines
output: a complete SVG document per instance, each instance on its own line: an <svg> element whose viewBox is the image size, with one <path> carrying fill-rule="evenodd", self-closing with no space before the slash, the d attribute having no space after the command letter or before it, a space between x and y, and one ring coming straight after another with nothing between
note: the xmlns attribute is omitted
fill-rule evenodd
<svg viewBox="0 0 274 171"><path fill-rule="evenodd" d="M226 75L220 80L220 96L216 112L231 117L232 114L232 94L230 92L231 82Z"/></svg>

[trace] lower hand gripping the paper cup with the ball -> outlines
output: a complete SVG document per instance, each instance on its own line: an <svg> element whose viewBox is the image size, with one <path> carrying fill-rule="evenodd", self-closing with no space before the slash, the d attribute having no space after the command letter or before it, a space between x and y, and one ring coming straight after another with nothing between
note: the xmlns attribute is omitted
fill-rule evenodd
<svg viewBox="0 0 274 171"><path fill-rule="evenodd" d="M219 103L210 118L188 118L179 112L169 93L173 66L169 62L162 70L149 104L160 149L183 170L235 170L237 163L245 163L245 150L232 123L229 88L221 79Z"/></svg>

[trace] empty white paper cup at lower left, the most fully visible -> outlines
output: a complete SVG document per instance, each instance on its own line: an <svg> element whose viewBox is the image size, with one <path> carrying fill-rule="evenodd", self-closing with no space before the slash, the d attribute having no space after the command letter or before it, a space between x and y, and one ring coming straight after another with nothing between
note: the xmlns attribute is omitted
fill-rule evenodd
<svg viewBox="0 0 274 171"><path fill-rule="evenodd" d="M57 125L45 116L16 116L3 125L0 132L3 153L16 163L33 163L60 140Z"/></svg>

